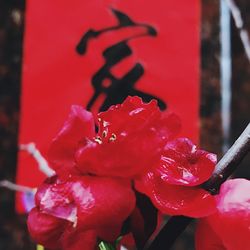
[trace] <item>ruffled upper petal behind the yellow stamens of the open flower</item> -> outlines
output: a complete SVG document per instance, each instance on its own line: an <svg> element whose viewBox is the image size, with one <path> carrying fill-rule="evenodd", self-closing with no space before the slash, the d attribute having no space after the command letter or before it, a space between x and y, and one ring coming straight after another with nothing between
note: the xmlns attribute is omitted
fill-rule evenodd
<svg viewBox="0 0 250 250"><path fill-rule="evenodd" d="M139 97L128 97L122 104L111 106L99 117L99 135L114 133L125 138L154 131L166 142L174 138L181 128L180 118L173 113L162 113L157 102L144 103Z"/></svg>

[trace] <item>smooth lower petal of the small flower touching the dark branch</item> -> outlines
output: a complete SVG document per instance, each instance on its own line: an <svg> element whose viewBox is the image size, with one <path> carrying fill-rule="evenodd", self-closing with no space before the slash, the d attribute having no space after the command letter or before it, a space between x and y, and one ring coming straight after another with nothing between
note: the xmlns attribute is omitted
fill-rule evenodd
<svg viewBox="0 0 250 250"><path fill-rule="evenodd" d="M149 196L163 214L199 218L216 211L215 199L198 187L170 185L154 173L136 182L136 189Z"/></svg>

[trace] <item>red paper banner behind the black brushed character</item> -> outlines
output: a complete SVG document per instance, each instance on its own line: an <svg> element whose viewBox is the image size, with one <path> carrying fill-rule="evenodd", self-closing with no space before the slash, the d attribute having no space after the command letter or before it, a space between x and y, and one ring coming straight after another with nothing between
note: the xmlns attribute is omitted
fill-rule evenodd
<svg viewBox="0 0 250 250"><path fill-rule="evenodd" d="M156 37L129 41L133 54L113 73L123 75L140 62L145 73L136 88L163 99L180 115L182 135L197 142L199 0L28 0L19 143L34 142L46 156L70 106L86 106L93 94L91 76L104 64L103 50L115 44L119 34L94 39L86 55L75 48L88 29L117 23L110 7L158 31ZM43 179L34 159L20 152L17 182L36 187ZM20 199L17 209L23 209Z"/></svg>

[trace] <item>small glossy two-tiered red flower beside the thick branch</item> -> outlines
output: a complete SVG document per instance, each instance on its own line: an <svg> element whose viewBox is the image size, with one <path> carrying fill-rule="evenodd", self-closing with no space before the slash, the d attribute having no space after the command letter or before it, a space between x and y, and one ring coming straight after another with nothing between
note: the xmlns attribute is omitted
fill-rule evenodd
<svg viewBox="0 0 250 250"><path fill-rule="evenodd" d="M162 213L207 216L215 212L215 200L199 184L211 176L215 164L215 155L179 138L166 144L160 164L142 176L136 188L148 195Z"/></svg>

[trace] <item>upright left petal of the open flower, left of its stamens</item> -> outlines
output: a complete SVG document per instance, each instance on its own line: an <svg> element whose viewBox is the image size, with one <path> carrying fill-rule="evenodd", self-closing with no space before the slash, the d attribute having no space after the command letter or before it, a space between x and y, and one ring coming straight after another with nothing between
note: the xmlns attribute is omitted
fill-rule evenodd
<svg viewBox="0 0 250 250"><path fill-rule="evenodd" d="M49 152L49 161L52 167L59 171L71 169L74 166L75 151L85 137L92 138L95 135L93 115L81 106L74 105L65 121L61 131L54 138Z"/></svg>

